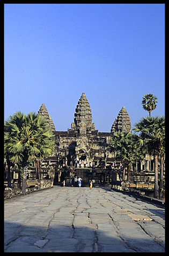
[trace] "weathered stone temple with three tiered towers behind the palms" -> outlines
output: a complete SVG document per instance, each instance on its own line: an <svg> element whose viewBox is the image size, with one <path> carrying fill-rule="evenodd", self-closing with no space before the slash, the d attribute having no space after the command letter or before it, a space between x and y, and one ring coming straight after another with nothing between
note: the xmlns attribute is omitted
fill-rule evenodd
<svg viewBox="0 0 169 256"><path fill-rule="evenodd" d="M54 184L61 184L66 181L66 186L70 186L72 177L81 177L82 186L89 186L89 181L93 183L111 184L113 181L120 181L119 172L121 159L115 159L114 152L110 151L111 136L115 131L131 132L131 122L123 106L115 119L110 132L99 132L92 123L92 113L90 104L85 94L80 97L76 109L74 123L68 131L56 131L52 118L42 104L39 111L45 117L55 136L55 152L50 157L40 161L40 168L35 167L28 170L28 179L48 179L52 174ZM114 166L113 166L114 165ZM113 170L112 170L113 167ZM144 160L136 161L130 172L132 182L153 182L154 160L150 155L145 155ZM5 165L4 177L7 179L7 169ZM11 169L12 179L18 179L19 170ZM126 170L127 174L127 170ZM126 175L127 178L127 175ZM113 184L113 183L112 183Z"/></svg>

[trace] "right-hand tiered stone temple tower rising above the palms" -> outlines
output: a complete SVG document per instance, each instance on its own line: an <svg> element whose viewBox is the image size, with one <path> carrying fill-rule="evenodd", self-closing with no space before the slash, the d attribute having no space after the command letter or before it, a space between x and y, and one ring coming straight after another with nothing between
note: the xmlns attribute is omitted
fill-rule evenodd
<svg viewBox="0 0 169 256"><path fill-rule="evenodd" d="M119 115L117 116L112 125L111 132L117 131L131 132L131 122L128 112L125 109L125 106L122 107L122 109L119 112Z"/></svg>

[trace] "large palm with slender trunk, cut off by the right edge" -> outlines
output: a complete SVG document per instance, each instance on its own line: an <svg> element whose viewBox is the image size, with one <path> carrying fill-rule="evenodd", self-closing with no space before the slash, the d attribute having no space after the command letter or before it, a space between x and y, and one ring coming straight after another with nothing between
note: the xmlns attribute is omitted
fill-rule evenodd
<svg viewBox="0 0 169 256"><path fill-rule="evenodd" d="M134 125L133 129L139 133L138 142L145 145L150 155L155 160L155 188L154 196L158 198L158 157L164 150L165 140L165 118L162 117L145 117Z"/></svg>

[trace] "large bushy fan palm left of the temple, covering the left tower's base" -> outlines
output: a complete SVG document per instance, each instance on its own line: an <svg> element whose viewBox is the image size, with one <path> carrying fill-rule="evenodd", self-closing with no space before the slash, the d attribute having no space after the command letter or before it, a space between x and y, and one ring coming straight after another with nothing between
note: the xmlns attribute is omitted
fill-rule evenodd
<svg viewBox="0 0 169 256"><path fill-rule="evenodd" d="M31 161L38 161L54 152L54 135L45 119L34 112L25 116L20 111L5 122L5 154L24 169L22 190Z"/></svg>

